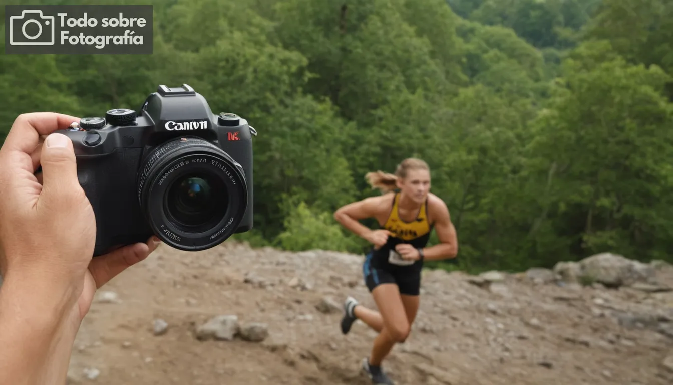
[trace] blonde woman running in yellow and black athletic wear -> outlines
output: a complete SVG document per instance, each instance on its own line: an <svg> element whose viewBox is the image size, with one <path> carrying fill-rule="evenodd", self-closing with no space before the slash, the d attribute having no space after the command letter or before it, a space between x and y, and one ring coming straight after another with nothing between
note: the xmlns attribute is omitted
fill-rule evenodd
<svg viewBox="0 0 673 385"><path fill-rule="evenodd" d="M455 258L458 240L446 204L429 193L430 172L423 160L408 158L395 175L378 171L365 178L383 195L347 204L334 212L334 218L373 245L362 270L378 312L348 297L341 331L348 334L353 322L361 320L379 333L362 366L373 384L392 385L381 363L396 343L409 336L419 308L423 261ZM365 218L376 218L382 229L371 230L358 222ZM433 228L440 243L426 248Z"/></svg>

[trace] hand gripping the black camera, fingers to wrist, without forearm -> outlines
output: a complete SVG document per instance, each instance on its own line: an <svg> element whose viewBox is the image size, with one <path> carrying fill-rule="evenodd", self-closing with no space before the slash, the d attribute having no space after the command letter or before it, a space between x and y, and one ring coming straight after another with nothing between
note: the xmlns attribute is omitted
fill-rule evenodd
<svg viewBox="0 0 673 385"><path fill-rule="evenodd" d="M3 289L30 290L40 301L34 307L55 311L48 314L76 330L96 289L144 260L159 241L151 237L92 259L96 218L77 180L73 144L52 134L73 121L79 118L20 115L0 149L0 274ZM38 165L42 174L36 177Z"/></svg>

